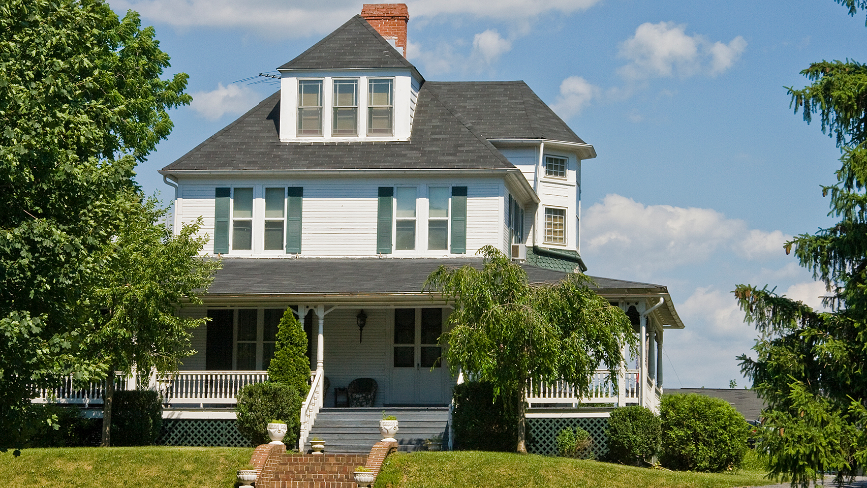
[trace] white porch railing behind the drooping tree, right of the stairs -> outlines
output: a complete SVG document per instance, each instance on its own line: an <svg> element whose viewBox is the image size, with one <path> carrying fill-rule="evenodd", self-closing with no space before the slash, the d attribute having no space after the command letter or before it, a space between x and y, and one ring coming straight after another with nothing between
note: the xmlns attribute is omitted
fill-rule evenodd
<svg viewBox="0 0 867 488"><path fill-rule="evenodd" d="M590 381L590 395L578 398L577 392L567 381L531 380L527 385L527 402L530 407L538 404L560 404L563 407L577 407L579 404L610 403L615 407L624 407L628 403L640 403L641 388L637 369L626 369L618 374L619 391L615 394L614 385L609 380L607 369L597 369ZM655 396L655 393L649 396ZM658 398L656 399L658 403ZM536 405L534 405L536 404Z"/></svg>

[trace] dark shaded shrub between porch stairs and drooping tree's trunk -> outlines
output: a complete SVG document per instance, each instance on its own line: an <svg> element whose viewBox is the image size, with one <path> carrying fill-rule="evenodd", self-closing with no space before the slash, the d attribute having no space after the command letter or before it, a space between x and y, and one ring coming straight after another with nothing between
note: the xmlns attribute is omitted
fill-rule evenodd
<svg viewBox="0 0 867 488"><path fill-rule="evenodd" d="M505 397L493 400L490 383L469 381L454 387L454 446L462 451L513 452L518 446L518 413ZM518 405L518 399L508 405ZM529 429L528 429L529 431ZM529 432L528 432L529 434Z"/></svg>

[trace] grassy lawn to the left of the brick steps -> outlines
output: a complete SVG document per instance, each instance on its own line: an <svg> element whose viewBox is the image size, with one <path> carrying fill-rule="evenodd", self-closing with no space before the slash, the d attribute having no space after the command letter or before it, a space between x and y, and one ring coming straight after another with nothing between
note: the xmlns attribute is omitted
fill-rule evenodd
<svg viewBox="0 0 867 488"><path fill-rule="evenodd" d="M235 485L251 447L65 447L0 453L0 485L200 488Z"/></svg>

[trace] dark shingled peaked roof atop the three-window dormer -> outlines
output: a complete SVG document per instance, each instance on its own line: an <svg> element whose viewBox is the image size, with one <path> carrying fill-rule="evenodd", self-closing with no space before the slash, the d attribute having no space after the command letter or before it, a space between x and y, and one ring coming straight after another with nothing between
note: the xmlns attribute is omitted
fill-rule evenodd
<svg viewBox="0 0 867 488"><path fill-rule="evenodd" d="M277 69L330 68L415 69L368 21L357 15Z"/></svg>

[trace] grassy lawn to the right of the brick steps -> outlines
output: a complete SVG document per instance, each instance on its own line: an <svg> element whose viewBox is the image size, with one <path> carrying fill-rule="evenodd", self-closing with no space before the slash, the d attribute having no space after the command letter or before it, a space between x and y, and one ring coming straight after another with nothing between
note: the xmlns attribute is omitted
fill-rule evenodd
<svg viewBox="0 0 867 488"><path fill-rule="evenodd" d="M748 463L755 466L754 462ZM764 471L668 472L508 452L414 452L389 456L375 488L731 488L771 485Z"/></svg>

